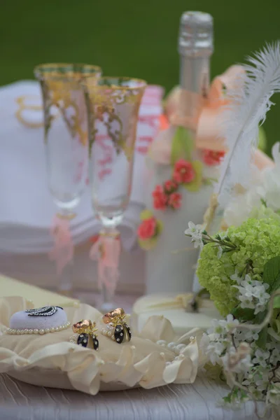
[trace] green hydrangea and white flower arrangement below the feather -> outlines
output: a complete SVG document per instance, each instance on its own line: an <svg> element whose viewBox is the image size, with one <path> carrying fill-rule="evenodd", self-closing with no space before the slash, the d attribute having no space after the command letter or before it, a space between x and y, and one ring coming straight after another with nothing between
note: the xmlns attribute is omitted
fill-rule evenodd
<svg viewBox="0 0 280 420"><path fill-rule="evenodd" d="M223 372L228 405L248 399L280 406L280 221L249 218L211 236L189 223L202 249L197 276L225 317L213 320L201 348L205 366Z"/></svg>

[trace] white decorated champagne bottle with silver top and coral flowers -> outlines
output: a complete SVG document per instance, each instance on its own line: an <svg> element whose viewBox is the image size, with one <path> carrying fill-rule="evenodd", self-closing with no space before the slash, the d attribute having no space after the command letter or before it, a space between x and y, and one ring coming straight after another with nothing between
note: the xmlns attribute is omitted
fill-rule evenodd
<svg viewBox="0 0 280 420"><path fill-rule="evenodd" d="M179 99L175 99L175 102L179 100L179 105L176 105L179 117L195 121L202 98L207 97L209 90L212 52L211 15L202 12L183 13L179 30L181 89ZM178 90L176 92L178 94ZM169 156L168 162L160 161L161 151L165 151L164 156ZM166 153L167 151L169 153ZM192 162L196 170L195 180L186 188L184 185L179 186L179 209L155 209L153 190L172 179L174 162L180 158ZM192 291L198 250L189 245L184 230L188 228L188 221L202 223L213 191L210 183L207 185L204 181L214 178L217 169L202 164L202 152L195 149L195 127L187 128L174 124L155 139L147 163L149 182L146 207L151 209L155 218L162 223L162 232L155 246L147 251L146 292L149 294ZM188 246L190 249L186 250Z"/></svg>

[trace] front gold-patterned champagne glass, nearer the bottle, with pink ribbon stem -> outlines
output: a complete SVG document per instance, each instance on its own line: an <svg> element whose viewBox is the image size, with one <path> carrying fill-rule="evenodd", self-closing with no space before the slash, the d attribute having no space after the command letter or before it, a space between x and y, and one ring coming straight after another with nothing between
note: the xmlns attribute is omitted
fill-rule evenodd
<svg viewBox="0 0 280 420"><path fill-rule="evenodd" d="M120 239L117 230L132 188L134 145L146 82L127 77L83 80L90 150L90 188L99 235L99 308L109 311L118 280Z"/></svg>

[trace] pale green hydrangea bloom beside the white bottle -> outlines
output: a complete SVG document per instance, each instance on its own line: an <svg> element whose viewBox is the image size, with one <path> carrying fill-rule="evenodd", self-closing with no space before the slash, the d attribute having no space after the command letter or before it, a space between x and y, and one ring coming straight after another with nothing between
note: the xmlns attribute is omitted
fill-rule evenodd
<svg viewBox="0 0 280 420"><path fill-rule="evenodd" d="M229 228L227 233L237 251L223 253L219 259L218 248L207 244L202 249L197 268L200 284L209 290L211 300L223 316L238 304L238 290L232 287L236 282L230 276L243 272L251 261L253 279L261 281L265 263L280 255L280 221L249 218L241 226Z"/></svg>

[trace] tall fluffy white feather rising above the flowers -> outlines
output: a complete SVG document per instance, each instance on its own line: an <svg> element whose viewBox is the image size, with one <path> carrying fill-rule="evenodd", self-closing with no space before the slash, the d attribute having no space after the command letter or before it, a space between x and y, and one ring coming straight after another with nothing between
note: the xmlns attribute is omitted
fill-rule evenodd
<svg viewBox="0 0 280 420"><path fill-rule="evenodd" d="M272 94L280 92L280 42L267 44L248 57L248 62L241 80L243 89L237 83L228 92L230 105L225 106L222 115L222 135L228 153L216 188L221 207L230 199L235 184L246 187L250 178L253 146L258 146L258 127L273 104Z"/></svg>

